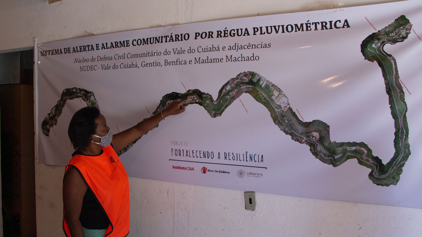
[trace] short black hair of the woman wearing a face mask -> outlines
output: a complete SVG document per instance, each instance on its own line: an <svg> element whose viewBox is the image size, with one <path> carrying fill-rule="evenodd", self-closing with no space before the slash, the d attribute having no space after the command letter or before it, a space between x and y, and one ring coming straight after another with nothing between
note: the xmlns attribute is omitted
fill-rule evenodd
<svg viewBox="0 0 422 237"><path fill-rule="evenodd" d="M73 148L84 149L91 143L91 135L95 134L95 119L100 116L97 107L85 107L76 111L69 123L68 135Z"/></svg>

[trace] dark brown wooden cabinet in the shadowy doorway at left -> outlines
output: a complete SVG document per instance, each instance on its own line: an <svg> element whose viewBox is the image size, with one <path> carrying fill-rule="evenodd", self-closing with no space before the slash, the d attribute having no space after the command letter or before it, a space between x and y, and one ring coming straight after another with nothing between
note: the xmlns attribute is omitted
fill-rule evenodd
<svg viewBox="0 0 422 237"><path fill-rule="evenodd" d="M32 85L0 85L3 229L20 237L37 234L33 98Z"/></svg>

